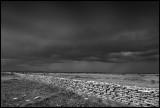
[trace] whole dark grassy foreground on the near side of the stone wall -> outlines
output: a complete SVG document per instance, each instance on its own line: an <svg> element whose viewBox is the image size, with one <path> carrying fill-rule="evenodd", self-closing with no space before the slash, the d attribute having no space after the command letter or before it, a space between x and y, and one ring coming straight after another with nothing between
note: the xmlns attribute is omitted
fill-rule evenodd
<svg viewBox="0 0 160 108"><path fill-rule="evenodd" d="M1 107L125 107L95 97L79 96L71 91L1 74Z"/></svg>

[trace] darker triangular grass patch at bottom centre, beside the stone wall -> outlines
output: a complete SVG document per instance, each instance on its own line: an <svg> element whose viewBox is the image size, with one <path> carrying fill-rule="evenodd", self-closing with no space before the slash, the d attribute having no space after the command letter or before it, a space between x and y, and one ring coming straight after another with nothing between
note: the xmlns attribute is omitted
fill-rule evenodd
<svg viewBox="0 0 160 108"><path fill-rule="evenodd" d="M63 91L26 107L106 107L105 104L83 97L69 91Z"/></svg>

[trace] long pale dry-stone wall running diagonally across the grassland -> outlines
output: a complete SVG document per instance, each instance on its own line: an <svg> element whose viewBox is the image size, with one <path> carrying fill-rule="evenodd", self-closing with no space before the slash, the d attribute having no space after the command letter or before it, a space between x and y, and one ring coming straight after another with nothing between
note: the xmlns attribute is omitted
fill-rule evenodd
<svg viewBox="0 0 160 108"><path fill-rule="evenodd" d="M96 96L102 99L104 103L107 100L111 100L130 106L159 106L159 88L125 86L106 82L84 81L44 75L20 73L16 73L16 75L28 80L62 87L79 95Z"/></svg>

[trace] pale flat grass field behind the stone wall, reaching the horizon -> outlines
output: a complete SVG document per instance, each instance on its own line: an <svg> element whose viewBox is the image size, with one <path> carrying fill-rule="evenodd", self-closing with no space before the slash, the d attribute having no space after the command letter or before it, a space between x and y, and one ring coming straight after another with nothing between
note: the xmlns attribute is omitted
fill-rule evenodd
<svg viewBox="0 0 160 108"><path fill-rule="evenodd" d="M34 73L35 74L35 73ZM44 74L44 73L36 73ZM87 74L87 73L45 73L55 77L94 80L120 85L159 88L159 74Z"/></svg>

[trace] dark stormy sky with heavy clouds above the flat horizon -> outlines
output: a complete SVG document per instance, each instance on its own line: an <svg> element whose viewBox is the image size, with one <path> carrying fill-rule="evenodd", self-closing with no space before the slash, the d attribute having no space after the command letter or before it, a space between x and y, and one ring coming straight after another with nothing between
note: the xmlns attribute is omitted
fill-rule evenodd
<svg viewBox="0 0 160 108"><path fill-rule="evenodd" d="M3 1L1 71L159 73L159 2Z"/></svg>

